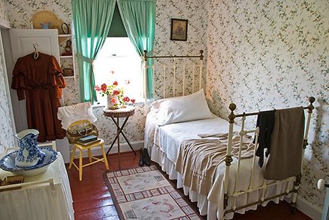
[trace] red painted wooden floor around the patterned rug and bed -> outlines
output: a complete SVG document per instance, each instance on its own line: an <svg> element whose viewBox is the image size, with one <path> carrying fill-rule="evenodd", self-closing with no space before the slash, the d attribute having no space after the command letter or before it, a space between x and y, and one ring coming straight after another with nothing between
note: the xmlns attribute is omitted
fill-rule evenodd
<svg viewBox="0 0 329 220"><path fill-rule="evenodd" d="M137 152L138 153L138 152ZM121 154L121 169L129 169L138 166L140 155L130 153ZM77 161L76 161L77 162ZM108 155L110 171L117 170L117 155ZM87 158L84 158L87 163ZM68 167L68 165L67 165ZM78 180L78 170L73 166L67 173L74 201L74 217L76 220L81 219L119 219L115 205L108 191L103 173L106 171L103 162L92 164L83 168L83 180ZM235 220L309 220L301 212L292 214L289 205L285 202L279 204L269 203L266 207L259 207L256 211L248 211L246 214L235 214Z"/></svg>

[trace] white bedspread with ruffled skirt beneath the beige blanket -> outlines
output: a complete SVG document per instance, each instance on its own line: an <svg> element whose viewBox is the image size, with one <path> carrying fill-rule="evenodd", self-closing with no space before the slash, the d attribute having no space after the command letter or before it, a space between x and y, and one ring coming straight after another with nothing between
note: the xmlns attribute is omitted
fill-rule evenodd
<svg viewBox="0 0 329 220"><path fill-rule="evenodd" d="M234 130L239 130L239 126L235 126ZM182 177L175 171L176 160L178 157L178 149L180 144L185 139L200 138L199 134L209 133L228 133L228 121L219 117L213 119L203 119L198 121L188 121L178 124L169 124L166 126L156 125L155 112L149 112L146 117L145 126L145 146L151 153L151 160L157 162L166 171L171 179L177 179L177 187L183 187L186 195L194 202L198 202L198 207L201 215L208 214L208 219L223 219L223 176L225 173L225 164L221 163L217 167L214 177L214 184L208 196L203 196L196 192L192 192L188 187L183 186ZM265 161L266 162L266 161ZM252 158L242 160L239 171L238 190L246 190L249 187L249 179L251 176ZM230 167L230 184L228 194L233 194L235 187L235 173L237 167L237 159L233 158L233 163ZM264 166L263 166L264 169ZM260 187L263 183L263 169L257 165L254 168L253 187ZM269 182L267 182L269 183ZM273 196L278 193L285 192L285 183L271 187L267 190L266 196ZM292 188L292 183L289 183L289 188ZM255 191L251 194L239 196L237 207L246 205L251 201L260 200L261 191ZM283 198L283 197L282 197ZM282 199L280 198L280 199ZM275 200L278 203L278 199ZM264 203L262 205L266 205ZM232 199L228 201L228 208L232 205ZM244 213L246 210L255 210L257 205L239 210L237 212ZM232 219L233 213L226 214L225 219Z"/></svg>

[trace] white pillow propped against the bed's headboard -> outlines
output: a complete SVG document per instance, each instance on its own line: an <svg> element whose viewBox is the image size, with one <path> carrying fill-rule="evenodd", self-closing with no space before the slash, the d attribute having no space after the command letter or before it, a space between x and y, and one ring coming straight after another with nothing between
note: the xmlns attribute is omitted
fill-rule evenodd
<svg viewBox="0 0 329 220"><path fill-rule="evenodd" d="M158 125L212 118L203 90L188 96L160 99L151 104Z"/></svg>

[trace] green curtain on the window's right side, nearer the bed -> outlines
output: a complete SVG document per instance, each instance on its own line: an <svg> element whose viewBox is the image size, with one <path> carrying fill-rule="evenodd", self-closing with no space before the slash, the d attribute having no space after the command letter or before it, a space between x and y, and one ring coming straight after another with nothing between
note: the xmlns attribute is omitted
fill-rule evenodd
<svg viewBox="0 0 329 220"><path fill-rule="evenodd" d="M144 50L148 51L149 56L153 54L155 2L156 0L117 0L126 33L141 57L144 55ZM153 60L148 59L147 65L152 64ZM142 65L144 66L144 60ZM146 73L149 99L153 96L152 71L153 69L149 68Z"/></svg>

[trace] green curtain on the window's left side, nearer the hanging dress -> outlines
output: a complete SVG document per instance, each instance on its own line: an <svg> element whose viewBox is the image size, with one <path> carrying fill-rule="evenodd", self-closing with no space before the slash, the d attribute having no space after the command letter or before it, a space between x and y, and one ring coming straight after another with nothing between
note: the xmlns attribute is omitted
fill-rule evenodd
<svg viewBox="0 0 329 220"><path fill-rule="evenodd" d="M92 64L112 22L115 0L72 0L81 101L97 101Z"/></svg>

